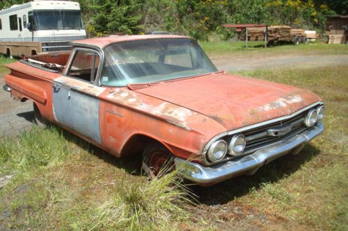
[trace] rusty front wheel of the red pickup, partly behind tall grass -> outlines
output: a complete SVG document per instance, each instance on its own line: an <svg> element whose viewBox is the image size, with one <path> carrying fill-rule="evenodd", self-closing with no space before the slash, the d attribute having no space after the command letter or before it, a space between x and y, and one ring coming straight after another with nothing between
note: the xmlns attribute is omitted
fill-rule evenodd
<svg viewBox="0 0 348 231"><path fill-rule="evenodd" d="M149 144L143 151L143 171L155 178L174 168L173 154L161 144Z"/></svg>

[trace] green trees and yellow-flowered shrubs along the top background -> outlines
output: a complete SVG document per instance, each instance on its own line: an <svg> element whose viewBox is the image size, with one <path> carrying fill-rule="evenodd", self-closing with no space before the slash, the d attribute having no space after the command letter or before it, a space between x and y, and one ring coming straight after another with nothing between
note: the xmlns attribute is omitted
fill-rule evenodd
<svg viewBox="0 0 348 231"><path fill-rule="evenodd" d="M0 1L0 8L30 0ZM222 24L289 25L323 32L326 16L348 13L348 0L75 0L88 35L169 31L208 40L228 40L234 31Z"/></svg>

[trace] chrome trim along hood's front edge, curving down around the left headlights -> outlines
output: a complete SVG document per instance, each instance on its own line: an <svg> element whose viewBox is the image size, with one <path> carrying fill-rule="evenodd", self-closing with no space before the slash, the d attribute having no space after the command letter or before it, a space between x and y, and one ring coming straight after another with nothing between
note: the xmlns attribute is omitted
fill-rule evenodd
<svg viewBox="0 0 348 231"><path fill-rule="evenodd" d="M278 117L276 119L271 119L271 120L267 120L267 121L263 121L261 123L255 123L251 126L246 126L246 127L243 127L243 128L237 128L235 130L230 130L230 131L226 131L226 132L222 132L220 133L219 135L216 135L215 137L213 137L212 139L209 140L209 142L207 142L207 144L205 145L205 147L203 148L203 161L205 162L205 164L207 165L211 165L211 164L214 164L212 162L207 162L207 158L206 158L206 154L207 154L207 150L209 149L209 146L212 145L213 142L216 141L216 139L220 139L221 137L224 137L226 135L233 135L235 133L238 133L238 132L243 132L245 130L251 130L253 128L258 128L258 127L261 127L261 126L265 126L269 123L276 123L278 121L282 121L282 120L285 120L285 119L291 119L292 117L296 117L296 115L298 114L301 114L302 112L310 109L310 108L313 108L315 107L316 105L323 105L324 102L323 101L318 101L316 103L312 103L311 105L308 105L307 107L305 108L302 108L292 114L288 114L287 116L284 116L284 117Z"/></svg>

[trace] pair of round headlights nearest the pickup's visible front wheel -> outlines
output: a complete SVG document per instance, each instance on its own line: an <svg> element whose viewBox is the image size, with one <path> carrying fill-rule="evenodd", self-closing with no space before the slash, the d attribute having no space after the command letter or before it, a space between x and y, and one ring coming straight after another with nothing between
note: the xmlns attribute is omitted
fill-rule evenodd
<svg viewBox="0 0 348 231"><path fill-rule="evenodd" d="M228 152L230 155L239 155L244 151L246 139L244 135L234 135L230 140L230 144L227 144L223 139L219 139L214 142L208 152L207 157L211 162L218 162L225 157Z"/></svg>

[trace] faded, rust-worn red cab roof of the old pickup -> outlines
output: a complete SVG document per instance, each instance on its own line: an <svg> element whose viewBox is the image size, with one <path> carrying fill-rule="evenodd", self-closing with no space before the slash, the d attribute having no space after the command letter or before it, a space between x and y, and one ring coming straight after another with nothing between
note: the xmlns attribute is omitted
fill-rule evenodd
<svg viewBox="0 0 348 231"><path fill-rule="evenodd" d="M109 44L116 42L127 42L136 40L154 40L154 39L171 39L171 38L190 38L181 35L111 35L109 37L96 37L87 40L75 40L72 42L74 46L97 46L103 49Z"/></svg>

